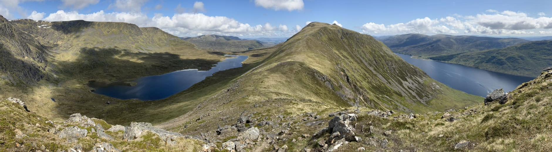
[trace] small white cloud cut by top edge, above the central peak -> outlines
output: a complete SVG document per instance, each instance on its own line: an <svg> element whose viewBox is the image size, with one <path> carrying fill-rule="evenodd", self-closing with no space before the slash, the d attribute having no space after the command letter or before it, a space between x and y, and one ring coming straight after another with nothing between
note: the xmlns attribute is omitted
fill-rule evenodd
<svg viewBox="0 0 552 152"><path fill-rule="evenodd" d="M275 11L295 11L302 10L305 7L302 0L255 0L255 5L266 9L274 9Z"/></svg>

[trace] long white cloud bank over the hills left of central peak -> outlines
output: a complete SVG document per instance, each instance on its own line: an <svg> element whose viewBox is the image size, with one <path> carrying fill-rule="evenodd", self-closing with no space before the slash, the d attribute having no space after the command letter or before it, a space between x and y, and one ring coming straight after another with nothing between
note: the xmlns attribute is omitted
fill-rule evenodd
<svg viewBox="0 0 552 152"><path fill-rule="evenodd" d="M139 27L157 27L165 32L177 36L197 34L244 35L244 36L288 36L286 25L274 27L270 23L250 25L240 23L235 19L220 16L208 16L202 13L177 13L172 17L155 14L147 17L144 13L99 11L90 14L81 14L76 11L57 11L44 18L47 21L88 20L95 22L126 22Z"/></svg>

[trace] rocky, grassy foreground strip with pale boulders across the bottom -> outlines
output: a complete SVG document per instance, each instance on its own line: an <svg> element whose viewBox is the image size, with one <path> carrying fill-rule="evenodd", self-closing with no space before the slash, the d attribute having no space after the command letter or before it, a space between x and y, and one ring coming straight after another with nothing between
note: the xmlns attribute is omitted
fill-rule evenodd
<svg viewBox="0 0 552 152"><path fill-rule="evenodd" d="M405 114L348 108L259 117L242 114L194 137L150 123L110 125L72 114L51 122L17 98L0 102L3 151L543 151L552 148L552 72L474 107ZM201 118L198 118L201 122Z"/></svg>

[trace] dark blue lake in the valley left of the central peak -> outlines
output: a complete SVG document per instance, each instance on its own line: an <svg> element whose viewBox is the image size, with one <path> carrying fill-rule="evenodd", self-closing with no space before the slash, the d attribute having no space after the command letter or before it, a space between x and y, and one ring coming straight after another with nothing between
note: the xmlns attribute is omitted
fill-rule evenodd
<svg viewBox="0 0 552 152"><path fill-rule="evenodd" d="M118 99L140 99L141 101L168 98L192 87L195 83L205 80L206 77L212 76L215 72L241 67L242 62L248 58L248 56L242 55L227 56L229 58L219 62L209 71L187 69L158 76L146 76L130 81L136 85L112 83L114 85L95 88L94 93Z"/></svg>

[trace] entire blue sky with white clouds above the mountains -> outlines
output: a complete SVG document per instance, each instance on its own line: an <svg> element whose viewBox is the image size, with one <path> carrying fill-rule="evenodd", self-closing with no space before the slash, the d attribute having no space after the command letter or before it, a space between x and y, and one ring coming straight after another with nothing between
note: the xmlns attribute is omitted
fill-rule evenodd
<svg viewBox="0 0 552 152"><path fill-rule="evenodd" d="M177 36L291 36L310 21L370 35L552 35L552 1L0 0L8 19L128 22ZM61 12L60 12L61 11Z"/></svg>

